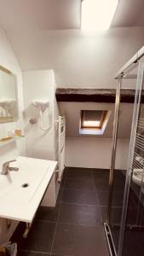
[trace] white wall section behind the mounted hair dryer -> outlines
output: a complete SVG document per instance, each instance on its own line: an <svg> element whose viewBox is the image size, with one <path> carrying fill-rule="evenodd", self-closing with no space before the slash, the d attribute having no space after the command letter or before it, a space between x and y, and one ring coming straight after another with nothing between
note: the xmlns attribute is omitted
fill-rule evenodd
<svg viewBox="0 0 144 256"><path fill-rule="evenodd" d="M26 155L46 160L56 160L56 119L58 119L55 104L55 76L52 70L29 71L23 73ZM43 113L43 125L50 125L48 131L40 129L38 108L32 102L35 100L49 101L49 109ZM50 120L49 120L50 113ZM44 119L45 116L45 119ZM32 125L29 120L36 118Z"/></svg>

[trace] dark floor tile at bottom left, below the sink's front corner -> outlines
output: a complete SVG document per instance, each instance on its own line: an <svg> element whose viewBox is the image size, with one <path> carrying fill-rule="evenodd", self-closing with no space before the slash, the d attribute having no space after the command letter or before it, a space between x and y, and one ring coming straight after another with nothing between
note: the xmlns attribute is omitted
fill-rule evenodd
<svg viewBox="0 0 144 256"><path fill-rule="evenodd" d="M55 232L55 223L35 221L20 249L50 253Z"/></svg>

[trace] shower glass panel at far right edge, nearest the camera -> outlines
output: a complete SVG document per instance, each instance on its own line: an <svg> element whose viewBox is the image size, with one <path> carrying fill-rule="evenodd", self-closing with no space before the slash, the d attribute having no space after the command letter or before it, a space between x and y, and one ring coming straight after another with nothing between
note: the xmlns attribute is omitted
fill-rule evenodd
<svg viewBox="0 0 144 256"><path fill-rule="evenodd" d="M144 61L141 59L141 62ZM124 225L123 256L144 255L144 98L142 93L140 108L137 110L138 122L130 155L130 195Z"/></svg>

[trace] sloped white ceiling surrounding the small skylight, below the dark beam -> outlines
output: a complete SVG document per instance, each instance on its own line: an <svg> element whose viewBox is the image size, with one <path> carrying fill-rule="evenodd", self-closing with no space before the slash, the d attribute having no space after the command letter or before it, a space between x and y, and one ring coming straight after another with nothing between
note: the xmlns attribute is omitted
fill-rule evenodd
<svg viewBox="0 0 144 256"><path fill-rule="evenodd" d="M79 135L81 110L111 110L107 127L99 138L112 138L114 104L95 102L59 102L60 113L66 116L66 137L90 137ZM118 138L129 139L134 104L121 103L118 125Z"/></svg>

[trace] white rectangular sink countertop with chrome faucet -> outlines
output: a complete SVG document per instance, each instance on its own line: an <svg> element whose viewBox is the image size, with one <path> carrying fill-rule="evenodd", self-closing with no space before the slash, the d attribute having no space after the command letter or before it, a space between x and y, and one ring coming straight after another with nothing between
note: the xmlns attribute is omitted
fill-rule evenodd
<svg viewBox="0 0 144 256"><path fill-rule="evenodd" d="M39 172L42 172L43 170L43 176L38 180L37 188L33 189L33 193L30 196L29 200L25 200L25 192L23 192L24 198L20 200L19 195L16 195L16 193L7 193L6 195L1 196L1 203L0 203L0 217L1 218L10 218L15 219L18 221L24 221L28 223L32 223L32 219L35 216L35 213L37 212L37 207L39 206L40 202L43 199L43 195L46 192L46 189L49 185L49 182L51 178L53 177L53 174L55 172L55 167L57 165L56 161L53 160L41 160L41 159L33 159L28 157L19 156L17 158L17 161L15 161L9 166L19 166L22 165L23 173L25 172L25 162L27 163L26 166L39 170ZM13 172L13 171L12 171ZM12 174L12 172L9 172L9 176ZM31 169L30 171L31 172ZM16 174L20 176L20 170L18 172L14 172L13 176L16 177ZM27 174L27 170L26 170ZM9 178L9 176L0 175L0 180L5 178ZM33 178L36 179L35 173L33 174ZM13 177L14 178L14 177ZM16 177L18 179L18 177ZM37 177L39 178L39 177ZM32 174L31 174L32 179ZM29 175L27 174L27 177L25 177L25 180L27 183L29 182ZM1 181L3 182L3 181ZM37 181L36 181L37 182ZM10 186L10 184L9 184ZM20 180L20 186L21 186L21 180ZM31 181L29 186L31 186ZM36 186L35 186L36 187ZM22 189L22 188L21 188ZM25 188L26 189L26 188ZM12 190L11 190L12 191ZM25 190L23 190L25 191ZM13 192L13 191L12 191ZM13 196L11 196L13 195ZM26 195L27 196L27 195Z"/></svg>

